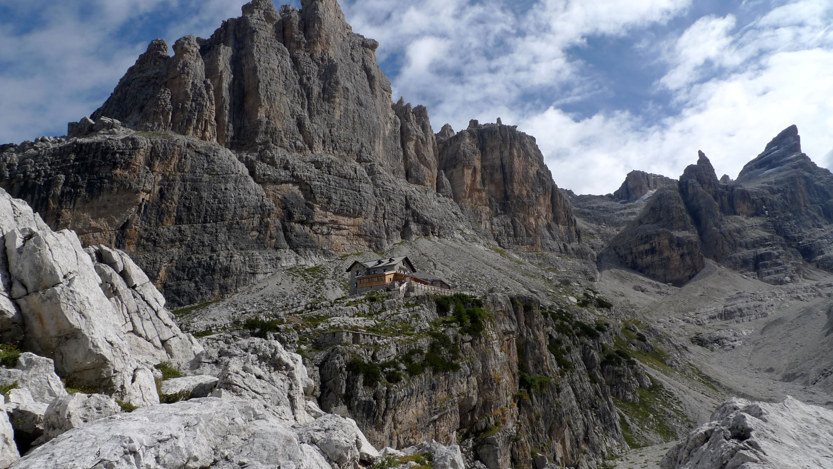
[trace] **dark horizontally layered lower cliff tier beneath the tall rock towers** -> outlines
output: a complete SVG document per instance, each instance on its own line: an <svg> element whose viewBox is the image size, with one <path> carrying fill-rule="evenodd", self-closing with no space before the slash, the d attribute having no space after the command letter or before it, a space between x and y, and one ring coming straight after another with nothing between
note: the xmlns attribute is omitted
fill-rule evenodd
<svg viewBox="0 0 833 469"><path fill-rule="evenodd" d="M129 252L174 304L239 290L282 265L461 227L458 206L433 190L323 154L236 155L120 129L24 144L2 160L2 186L47 224Z"/></svg>

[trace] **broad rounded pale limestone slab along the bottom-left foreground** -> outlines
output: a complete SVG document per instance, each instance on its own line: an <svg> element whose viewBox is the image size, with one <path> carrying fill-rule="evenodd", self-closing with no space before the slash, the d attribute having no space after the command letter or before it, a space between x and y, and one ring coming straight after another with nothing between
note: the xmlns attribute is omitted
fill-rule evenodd
<svg viewBox="0 0 833 469"><path fill-rule="evenodd" d="M332 469L317 447L299 442L262 408L213 397L95 421L38 446L13 468L146 466Z"/></svg>

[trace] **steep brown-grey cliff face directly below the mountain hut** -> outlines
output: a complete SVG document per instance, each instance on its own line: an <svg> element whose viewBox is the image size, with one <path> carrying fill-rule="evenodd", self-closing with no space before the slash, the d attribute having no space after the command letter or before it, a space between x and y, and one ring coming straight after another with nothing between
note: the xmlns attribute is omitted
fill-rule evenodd
<svg viewBox="0 0 833 469"><path fill-rule="evenodd" d="M430 297L416 302L428 309L427 318L436 317ZM386 306L396 307L394 301ZM558 466L586 466L621 445L611 396L638 401L635 374L646 386L650 379L603 363L602 344L612 335L576 335L556 319L555 306L531 297L493 294L483 306L494 316L483 335L442 333L459 349L457 371L374 384L351 368L355 348L333 348L318 363L322 409L349 413L377 446L465 441L489 469L534 466L533 448ZM389 363L421 346L397 340L367 350L367 360Z"/></svg>

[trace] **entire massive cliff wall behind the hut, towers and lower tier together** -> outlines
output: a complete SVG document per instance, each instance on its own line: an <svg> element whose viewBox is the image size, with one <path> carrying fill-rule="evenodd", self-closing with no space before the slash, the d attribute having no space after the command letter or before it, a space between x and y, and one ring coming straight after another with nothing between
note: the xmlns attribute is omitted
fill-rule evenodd
<svg viewBox="0 0 833 469"><path fill-rule="evenodd" d="M376 41L336 0L302 5L248 3L173 57L153 41L72 138L0 147L0 187L84 245L125 250L174 305L418 236L591 257L534 139L435 135L424 106L392 103ZM438 140L466 144L441 164ZM483 179L456 194L471 165Z"/></svg>

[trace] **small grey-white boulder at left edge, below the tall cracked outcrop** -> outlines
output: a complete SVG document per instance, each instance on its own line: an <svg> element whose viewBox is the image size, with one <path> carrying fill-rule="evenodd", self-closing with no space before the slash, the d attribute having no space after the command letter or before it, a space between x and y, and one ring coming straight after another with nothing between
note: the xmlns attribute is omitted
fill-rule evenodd
<svg viewBox="0 0 833 469"><path fill-rule="evenodd" d="M55 374L51 359L30 352L20 354L14 368L0 368L0 386L26 389L34 401L50 403L56 397L67 396L61 378Z"/></svg>

